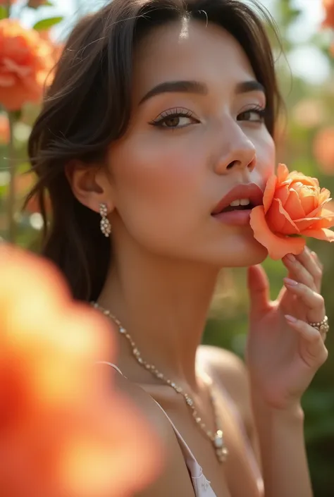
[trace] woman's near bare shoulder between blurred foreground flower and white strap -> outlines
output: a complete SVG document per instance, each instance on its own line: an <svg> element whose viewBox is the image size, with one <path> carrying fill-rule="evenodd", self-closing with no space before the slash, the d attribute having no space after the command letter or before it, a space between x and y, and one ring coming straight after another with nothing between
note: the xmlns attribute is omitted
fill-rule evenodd
<svg viewBox="0 0 334 497"><path fill-rule="evenodd" d="M128 381L128 379L120 374L116 375L116 388L130 398L132 404L146 417L151 427L153 427L161 439L165 453L163 469L159 477L147 489L136 494L136 496L171 497L182 495L184 497L194 497L183 453L173 427L159 405L156 405L151 396L143 388ZM130 470L131 468L129 467Z"/></svg>

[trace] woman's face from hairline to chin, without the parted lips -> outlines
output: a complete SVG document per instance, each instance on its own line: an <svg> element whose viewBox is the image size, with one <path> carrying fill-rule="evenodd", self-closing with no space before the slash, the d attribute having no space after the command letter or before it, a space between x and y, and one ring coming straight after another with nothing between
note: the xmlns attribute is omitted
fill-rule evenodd
<svg viewBox="0 0 334 497"><path fill-rule="evenodd" d="M261 262L248 222L211 215L236 185L263 190L274 170L265 94L240 45L198 21L159 27L137 47L132 97L128 133L109 150L120 235L165 257Z"/></svg>

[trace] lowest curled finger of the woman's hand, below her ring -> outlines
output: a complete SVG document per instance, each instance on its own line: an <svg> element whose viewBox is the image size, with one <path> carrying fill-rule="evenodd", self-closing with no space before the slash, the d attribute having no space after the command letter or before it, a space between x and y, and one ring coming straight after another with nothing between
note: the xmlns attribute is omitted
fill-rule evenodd
<svg viewBox="0 0 334 497"><path fill-rule="evenodd" d="M304 362L309 367L318 368L328 357L328 350L323 343L323 338L319 331L307 322L296 319L289 314L285 314L285 319L292 329L299 333L299 336L305 340L304 347L301 347L301 355Z"/></svg>

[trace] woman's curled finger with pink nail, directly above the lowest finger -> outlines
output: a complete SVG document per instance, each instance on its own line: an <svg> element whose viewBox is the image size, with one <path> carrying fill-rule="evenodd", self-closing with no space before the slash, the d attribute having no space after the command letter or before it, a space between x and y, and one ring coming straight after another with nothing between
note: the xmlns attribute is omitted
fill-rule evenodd
<svg viewBox="0 0 334 497"><path fill-rule="evenodd" d="M284 284L287 290L289 290L294 295L297 295L299 299L306 306L306 318L307 321L311 323L317 323L322 321L326 314L325 300L320 293L315 292L309 286L303 283L298 283L298 281L292 280L290 278L284 278Z"/></svg>

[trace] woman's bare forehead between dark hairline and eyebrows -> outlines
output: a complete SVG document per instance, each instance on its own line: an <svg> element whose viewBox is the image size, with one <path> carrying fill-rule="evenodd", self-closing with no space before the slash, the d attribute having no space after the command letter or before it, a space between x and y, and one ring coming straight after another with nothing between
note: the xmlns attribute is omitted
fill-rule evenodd
<svg viewBox="0 0 334 497"><path fill-rule="evenodd" d="M190 20L156 27L135 50L134 92L138 99L161 82L196 80L228 85L254 79L237 40L218 25Z"/></svg>

